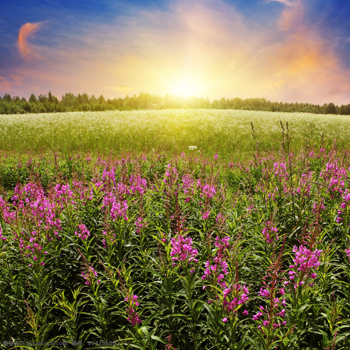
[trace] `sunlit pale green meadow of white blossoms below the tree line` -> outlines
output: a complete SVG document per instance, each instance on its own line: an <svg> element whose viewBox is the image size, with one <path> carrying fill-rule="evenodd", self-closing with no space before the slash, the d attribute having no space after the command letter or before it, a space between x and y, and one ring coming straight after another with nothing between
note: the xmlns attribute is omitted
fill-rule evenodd
<svg viewBox="0 0 350 350"><path fill-rule="evenodd" d="M204 154L218 152L230 159L255 150L250 121L254 123L260 150L280 148L279 120L288 121L292 147L325 145L337 139L349 146L350 116L310 113L277 113L240 110L104 111L45 114L13 114L0 118L0 150L5 152L72 151L106 154L182 152L190 145Z"/></svg>

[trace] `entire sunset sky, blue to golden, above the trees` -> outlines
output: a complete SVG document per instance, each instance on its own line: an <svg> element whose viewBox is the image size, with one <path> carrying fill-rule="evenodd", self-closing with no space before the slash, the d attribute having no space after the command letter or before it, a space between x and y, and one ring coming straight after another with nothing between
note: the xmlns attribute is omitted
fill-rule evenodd
<svg viewBox="0 0 350 350"><path fill-rule="evenodd" d="M2 0L0 95L350 103L349 0Z"/></svg>

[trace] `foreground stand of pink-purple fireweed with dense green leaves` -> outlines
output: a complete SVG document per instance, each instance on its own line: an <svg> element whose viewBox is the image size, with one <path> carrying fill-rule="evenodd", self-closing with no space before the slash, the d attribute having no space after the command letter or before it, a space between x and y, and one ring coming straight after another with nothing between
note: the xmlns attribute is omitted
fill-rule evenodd
<svg viewBox="0 0 350 350"><path fill-rule="evenodd" d="M251 128L228 163L2 154L0 347L349 349L349 153Z"/></svg>

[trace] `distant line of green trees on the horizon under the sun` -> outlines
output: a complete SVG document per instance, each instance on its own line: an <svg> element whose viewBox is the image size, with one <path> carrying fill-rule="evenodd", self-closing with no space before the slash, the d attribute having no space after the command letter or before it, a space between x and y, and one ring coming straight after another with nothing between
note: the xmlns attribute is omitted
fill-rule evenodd
<svg viewBox="0 0 350 350"><path fill-rule="evenodd" d="M265 98L239 97L209 101L207 97L198 98L195 96L184 97L166 94L165 96L151 95L141 92L139 96L126 96L114 99L107 99L101 95L96 98L89 97L86 93L75 96L71 92L62 95L61 101L51 91L47 95L40 94L37 98L32 93L27 101L25 97L11 97L5 93L0 96L0 114L16 113L52 113L52 112L75 112L75 111L105 111L105 110L140 110L140 109L172 109L172 108L193 108L193 109L239 109L253 111L271 112L306 112L320 114L350 114L350 104L336 106L334 103L325 103L322 106L310 103L283 103L271 102Z"/></svg>

